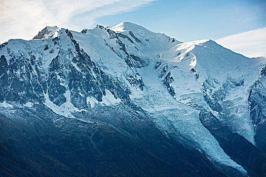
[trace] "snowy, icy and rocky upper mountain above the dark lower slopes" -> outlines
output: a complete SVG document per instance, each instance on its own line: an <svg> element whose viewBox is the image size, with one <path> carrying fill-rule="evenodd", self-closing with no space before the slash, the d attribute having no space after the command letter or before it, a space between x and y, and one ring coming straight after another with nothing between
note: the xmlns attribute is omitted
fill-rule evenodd
<svg viewBox="0 0 266 177"><path fill-rule="evenodd" d="M128 107L168 139L243 175L250 175L247 164L231 155L214 130L222 125L251 148L263 146L256 147L250 93L265 57L247 58L210 39L181 42L130 22L81 32L46 27L32 40L3 43L0 55L2 108L41 104L59 116L109 124L131 136L119 127L121 117L88 118L94 111ZM207 123L203 113L210 115Z"/></svg>

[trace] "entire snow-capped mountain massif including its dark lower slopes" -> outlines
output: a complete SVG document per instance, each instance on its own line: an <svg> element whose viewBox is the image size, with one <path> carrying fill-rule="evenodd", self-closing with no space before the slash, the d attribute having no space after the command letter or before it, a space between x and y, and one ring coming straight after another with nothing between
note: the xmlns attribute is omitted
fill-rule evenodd
<svg viewBox="0 0 266 177"><path fill-rule="evenodd" d="M266 174L264 57L130 22L46 27L0 56L3 175Z"/></svg>

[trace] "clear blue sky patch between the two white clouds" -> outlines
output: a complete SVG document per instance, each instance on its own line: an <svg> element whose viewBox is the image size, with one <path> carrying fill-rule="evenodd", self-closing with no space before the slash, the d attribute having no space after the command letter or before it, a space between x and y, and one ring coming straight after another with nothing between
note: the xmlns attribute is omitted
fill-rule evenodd
<svg viewBox="0 0 266 177"><path fill-rule="evenodd" d="M266 1L157 1L135 11L100 17L99 24L135 22L181 41L218 39L266 27Z"/></svg>

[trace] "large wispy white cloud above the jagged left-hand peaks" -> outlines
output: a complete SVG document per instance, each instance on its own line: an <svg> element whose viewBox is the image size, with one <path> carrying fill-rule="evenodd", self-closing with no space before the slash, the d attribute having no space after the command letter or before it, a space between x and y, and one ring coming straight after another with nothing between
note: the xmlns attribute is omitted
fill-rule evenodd
<svg viewBox="0 0 266 177"><path fill-rule="evenodd" d="M97 18L132 11L156 0L2 0L0 43L10 38L30 39L45 26L80 30Z"/></svg>

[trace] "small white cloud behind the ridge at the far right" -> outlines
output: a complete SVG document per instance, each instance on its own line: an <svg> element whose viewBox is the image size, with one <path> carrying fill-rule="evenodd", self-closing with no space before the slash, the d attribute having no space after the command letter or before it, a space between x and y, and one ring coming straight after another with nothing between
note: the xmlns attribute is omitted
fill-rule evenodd
<svg viewBox="0 0 266 177"><path fill-rule="evenodd" d="M247 57L266 57L266 27L216 40L217 43Z"/></svg>

